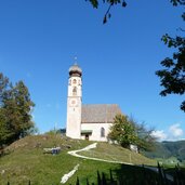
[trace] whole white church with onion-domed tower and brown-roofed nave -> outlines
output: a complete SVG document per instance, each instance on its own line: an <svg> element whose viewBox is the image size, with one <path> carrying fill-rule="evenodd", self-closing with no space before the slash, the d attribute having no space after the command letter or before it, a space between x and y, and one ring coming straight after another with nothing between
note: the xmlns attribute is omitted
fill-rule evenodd
<svg viewBox="0 0 185 185"><path fill-rule="evenodd" d="M106 142L117 114L121 114L117 104L82 104L82 70L74 64L68 78L66 135Z"/></svg>

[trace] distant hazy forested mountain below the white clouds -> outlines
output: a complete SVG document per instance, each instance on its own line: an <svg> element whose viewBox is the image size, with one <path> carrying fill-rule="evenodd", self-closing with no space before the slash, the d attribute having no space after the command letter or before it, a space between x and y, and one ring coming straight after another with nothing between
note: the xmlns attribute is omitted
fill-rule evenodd
<svg viewBox="0 0 185 185"><path fill-rule="evenodd" d="M185 141L157 142L153 151L143 151L149 158L176 157L180 161L185 160Z"/></svg>

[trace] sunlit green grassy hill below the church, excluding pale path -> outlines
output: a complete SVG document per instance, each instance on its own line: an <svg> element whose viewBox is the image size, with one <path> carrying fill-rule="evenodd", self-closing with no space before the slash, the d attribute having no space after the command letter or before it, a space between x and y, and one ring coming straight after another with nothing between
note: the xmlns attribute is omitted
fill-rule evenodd
<svg viewBox="0 0 185 185"><path fill-rule="evenodd" d="M109 173L109 169L117 175L119 169L124 169L124 174L140 167L121 166L101 161L92 161L76 158L67 154L68 150L80 149L92 142L70 140L61 135L38 135L22 138L5 148L5 156L0 158L0 184L27 185L31 181L34 185L58 185L64 174L70 172L79 164L79 170L66 184L75 184L77 176L80 182L96 181L96 171ZM58 155L44 154L43 148L60 146ZM85 156L103 159L133 162L136 164L154 164L155 161L141 155L131 153L119 146L98 143L97 148L87 151ZM140 171L140 170L138 170Z"/></svg>

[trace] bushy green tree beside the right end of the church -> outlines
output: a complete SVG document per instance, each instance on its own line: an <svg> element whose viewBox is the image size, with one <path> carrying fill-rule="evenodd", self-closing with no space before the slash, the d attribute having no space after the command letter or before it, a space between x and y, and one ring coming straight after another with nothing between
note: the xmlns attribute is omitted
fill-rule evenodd
<svg viewBox="0 0 185 185"><path fill-rule="evenodd" d="M137 146L138 150L151 150L156 142L151 132L153 130L147 130L144 124L138 124L127 116L116 115L108 138L125 148L133 144Z"/></svg>

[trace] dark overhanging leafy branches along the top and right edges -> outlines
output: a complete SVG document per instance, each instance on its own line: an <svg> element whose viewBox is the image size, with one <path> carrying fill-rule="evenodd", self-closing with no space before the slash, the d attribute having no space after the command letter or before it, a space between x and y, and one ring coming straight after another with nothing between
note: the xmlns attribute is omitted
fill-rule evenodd
<svg viewBox="0 0 185 185"><path fill-rule="evenodd" d="M110 18L110 9L114 5L121 4L123 8L127 6L124 0L85 0L89 1L93 8L98 8L100 2L108 4L108 9L105 13L103 23L107 23L107 18ZM129 1L129 0L128 0ZM170 0L174 5L185 5L185 0ZM185 21L185 12L182 14L182 18ZM180 28L184 34L184 29ZM166 57L160 64L164 69L157 70L156 75L160 78L160 85L164 89L160 92L161 96L168 94L180 94L185 93L185 37L176 36L175 38L170 37L166 34L161 39L164 44L169 48L174 48L176 51L173 53L173 57ZM181 109L185 111L185 101L181 104Z"/></svg>

